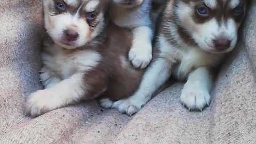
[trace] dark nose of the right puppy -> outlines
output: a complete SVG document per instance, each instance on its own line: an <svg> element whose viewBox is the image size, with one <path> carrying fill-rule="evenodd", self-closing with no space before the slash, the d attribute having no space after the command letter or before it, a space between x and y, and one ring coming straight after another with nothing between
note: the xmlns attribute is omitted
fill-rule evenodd
<svg viewBox="0 0 256 144"><path fill-rule="evenodd" d="M231 41L226 38L226 37L218 37L216 39L213 40L213 44L215 49L219 50L219 51L225 51L230 47L230 43Z"/></svg>

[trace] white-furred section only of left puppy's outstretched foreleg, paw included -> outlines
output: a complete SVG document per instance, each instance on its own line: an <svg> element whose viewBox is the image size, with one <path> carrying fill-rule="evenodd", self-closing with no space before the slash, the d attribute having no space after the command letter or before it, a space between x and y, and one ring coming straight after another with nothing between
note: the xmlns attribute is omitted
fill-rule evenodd
<svg viewBox="0 0 256 144"><path fill-rule="evenodd" d="M83 74L78 73L50 89L32 93L26 102L26 110L29 111L29 115L34 117L79 101L86 93L86 87L83 86L83 83Z"/></svg>

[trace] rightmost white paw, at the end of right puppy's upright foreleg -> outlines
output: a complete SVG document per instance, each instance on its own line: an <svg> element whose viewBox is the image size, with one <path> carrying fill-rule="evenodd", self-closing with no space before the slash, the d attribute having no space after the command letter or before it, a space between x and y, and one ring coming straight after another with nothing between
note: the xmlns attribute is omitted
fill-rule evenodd
<svg viewBox="0 0 256 144"><path fill-rule="evenodd" d="M181 103L188 110L203 110L205 106L210 105L210 94L202 89L183 89L180 96Z"/></svg>

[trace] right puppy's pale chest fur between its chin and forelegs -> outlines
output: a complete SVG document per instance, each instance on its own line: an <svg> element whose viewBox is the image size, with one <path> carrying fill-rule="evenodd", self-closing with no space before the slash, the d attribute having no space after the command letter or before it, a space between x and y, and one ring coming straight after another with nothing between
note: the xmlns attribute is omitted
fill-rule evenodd
<svg viewBox="0 0 256 144"><path fill-rule="evenodd" d="M205 52L198 47L175 47L166 41L164 36L159 36L160 56L170 62L170 65L179 63L172 73L178 78L185 78L193 68L212 67L218 65L223 54Z"/></svg>

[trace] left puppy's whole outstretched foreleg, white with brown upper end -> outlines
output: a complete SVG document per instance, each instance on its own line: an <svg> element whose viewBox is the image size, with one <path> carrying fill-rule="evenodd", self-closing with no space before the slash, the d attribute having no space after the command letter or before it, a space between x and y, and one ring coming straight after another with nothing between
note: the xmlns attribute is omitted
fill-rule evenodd
<svg viewBox="0 0 256 144"><path fill-rule="evenodd" d="M39 116L51 110L79 102L81 99L88 100L97 97L106 90L106 83L94 81L98 77L100 76L95 74L94 76L86 76L85 79L83 73L74 74L49 89L32 93L26 102L26 115Z"/></svg>

